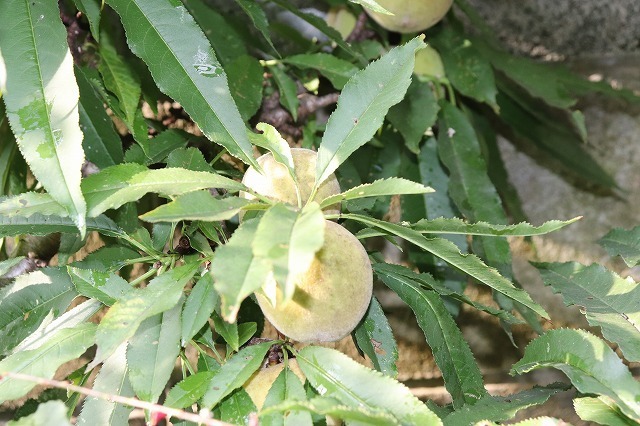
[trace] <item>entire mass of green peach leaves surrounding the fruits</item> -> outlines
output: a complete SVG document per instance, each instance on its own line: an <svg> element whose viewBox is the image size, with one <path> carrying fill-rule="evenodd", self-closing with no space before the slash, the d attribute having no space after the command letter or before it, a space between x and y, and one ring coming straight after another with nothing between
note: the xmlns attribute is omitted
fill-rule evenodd
<svg viewBox="0 0 640 426"><path fill-rule="evenodd" d="M79 365L67 377L73 391L42 394L14 424L69 424L78 411L77 424L124 424L140 403L150 424L160 412L192 418L194 407L233 424L490 424L565 391L490 395L456 322L464 305L509 336L521 323L541 331L549 315L513 279L506 237L578 219L527 223L496 138L613 190L584 149L577 98L637 99L509 55L464 1L425 34L402 37L366 20L363 7L384 12L375 1L321 2L359 15L347 37L287 0L214 3L0 2L0 402ZM444 77L413 74L425 42ZM240 182L260 170L258 152L295 177L293 146L318 152L309 200L334 173L342 192L308 201L298 190L288 205ZM336 204L340 214L323 212ZM367 245L378 285L411 309L450 404L420 401L396 379L398 345L375 296L352 333L373 368L260 337L254 294L275 277L283 302L293 298L326 220ZM369 244L380 240L401 247L405 264ZM638 240L638 229L614 230L602 244L633 267ZM640 361L637 283L598 265L536 267ZM496 303L470 298L470 284ZM284 368L257 410L242 386L274 356L295 357L306 380ZM544 333L511 372L540 367L568 376L581 418L640 421L640 386L603 339Z"/></svg>

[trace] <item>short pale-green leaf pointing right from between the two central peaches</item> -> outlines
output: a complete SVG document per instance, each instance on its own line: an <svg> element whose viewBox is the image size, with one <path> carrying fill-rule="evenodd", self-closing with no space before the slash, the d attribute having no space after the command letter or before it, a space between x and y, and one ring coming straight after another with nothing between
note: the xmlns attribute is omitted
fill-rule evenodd
<svg viewBox="0 0 640 426"><path fill-rule="evenodd" d="M341 201L355 200L365 197L383 197L386 195L428 194L433 189L403 178L378 179L371 183L355 186L340 194L325 198L320 208L325 208Z"/></svg>

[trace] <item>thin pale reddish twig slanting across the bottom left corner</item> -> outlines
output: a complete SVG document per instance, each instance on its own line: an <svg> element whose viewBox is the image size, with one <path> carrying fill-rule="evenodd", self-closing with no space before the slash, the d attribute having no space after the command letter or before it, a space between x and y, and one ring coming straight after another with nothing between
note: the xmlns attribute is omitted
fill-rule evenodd
<svg viewBox="0 0 640 426"><path fill-rule="evenodd" d="M82 386L72 385L67 382L59 380L45 379L42 377L31 376L23 373L4 372L0 373L0 381L9 377L16 380L25 380L28 382L37 383L39 385L53 386L59 389L66 389L72 392L78 392L83 395L91 396L98 399L104 399L109 402L117 402L119 404L129 405L131 407L141 408L143 410L149 410L152 413L162 413L167 417L175 417L177 419L194 422L197 424L203 424L207 426L233 426L230 423L226 423L220 420L212 419L204 415L189 413L187 411L178 410L177 408L165 407L159 404L153 404L151 402L140 401L136 398L129 398L120 395L111 395L108 393L96 391L93 389L85 388Z"/></svg>

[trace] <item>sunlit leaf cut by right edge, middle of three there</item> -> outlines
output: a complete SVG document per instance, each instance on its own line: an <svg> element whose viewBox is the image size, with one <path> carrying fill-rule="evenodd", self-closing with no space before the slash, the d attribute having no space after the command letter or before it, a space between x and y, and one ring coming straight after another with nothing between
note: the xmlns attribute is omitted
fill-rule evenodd
<svg viewBox="0 0 640 426"><path fill-rule="evenodd" d="M620 346L629 361L640 361L640 285L604 266L579 263L534 263L542 280L562 294L567 306L580 306L605 339Z"/></svg>

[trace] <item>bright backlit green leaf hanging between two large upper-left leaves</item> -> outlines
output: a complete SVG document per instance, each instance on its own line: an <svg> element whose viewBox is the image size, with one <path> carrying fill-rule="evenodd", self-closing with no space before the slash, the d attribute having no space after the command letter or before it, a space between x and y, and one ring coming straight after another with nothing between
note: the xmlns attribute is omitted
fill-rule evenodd
<svg viewBox="0 0 640 426"><path fill-rule="evenodd" d="M140 103L142 88L140 77L136 74L129 61L118 53L108 32L100 33L100 63L98 71L107 90L116 95L124 121L132 129Z"/></svg>

